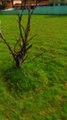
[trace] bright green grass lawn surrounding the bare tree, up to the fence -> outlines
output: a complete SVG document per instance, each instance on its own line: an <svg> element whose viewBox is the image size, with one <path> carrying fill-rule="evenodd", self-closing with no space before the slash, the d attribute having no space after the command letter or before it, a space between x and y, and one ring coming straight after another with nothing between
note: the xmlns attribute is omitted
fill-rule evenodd
<svg viewBox="0 0 67 120"><path fill-rule="evenodd" d="M0 15L0 21L13 48L17 17ZM20 71L13 69L13 59L0 40L0 120L67 120L67 16L33 15L30 36L34 34Z"/></svg>

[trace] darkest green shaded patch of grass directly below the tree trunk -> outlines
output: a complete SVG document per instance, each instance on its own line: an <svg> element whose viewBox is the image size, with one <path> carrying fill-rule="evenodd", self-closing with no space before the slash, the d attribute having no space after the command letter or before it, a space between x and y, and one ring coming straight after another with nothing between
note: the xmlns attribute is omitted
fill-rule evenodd
<svg viewBox="0 0 67 120"><path fill-rule="evenodd" d="M5 71L5 83L11 93L24 92L30 89L30 80L27 75L16 68L10 68Z"/></svg>

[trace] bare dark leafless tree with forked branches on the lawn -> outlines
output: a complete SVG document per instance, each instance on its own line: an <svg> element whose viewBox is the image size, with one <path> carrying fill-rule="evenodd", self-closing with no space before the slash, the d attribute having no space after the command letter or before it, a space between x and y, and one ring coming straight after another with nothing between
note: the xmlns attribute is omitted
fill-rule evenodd
<svg viewBox="0 0 67 120"><path fill-rule="evenodd" d="M27 5L26 2L27 2L27 0L24 0L24 3L23 3L24 7L21 6L21 12L18 14L18 27L19 27L20 36L19 36L18 40L16 41L16 44L14 45L14 49L11 48L8 41L4 38L3 34L0 32L0 38L3 40L3 42L8 47L8 49L16 63L17 68L20 68L21 65L23 64L23 62L25 61L27 52L32 47L32 44L30 44L29 41L31 39L33 39L33 37L35 36L34 35L30 39L28 39L33 9L31 9L31 5ZM28 11L26 27L24 27L22 25L23 12L25 9ZM19 49L16 49L17 46L19 47Z"/></svg>

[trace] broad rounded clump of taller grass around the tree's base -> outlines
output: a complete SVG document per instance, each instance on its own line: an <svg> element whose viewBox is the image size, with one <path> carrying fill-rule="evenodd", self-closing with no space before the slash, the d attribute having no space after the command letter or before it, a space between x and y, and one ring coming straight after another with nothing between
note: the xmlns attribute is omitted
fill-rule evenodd
<svg viewBox="0 0 67 120"><path fill-rule="evenodd" d="M37 79L37 74L33 77L33 72L26 69L9 68L4 72L4 82L8 91L11 94L17 94L18 96L25 92L35 91L37 86L41 84Z"/></svg>

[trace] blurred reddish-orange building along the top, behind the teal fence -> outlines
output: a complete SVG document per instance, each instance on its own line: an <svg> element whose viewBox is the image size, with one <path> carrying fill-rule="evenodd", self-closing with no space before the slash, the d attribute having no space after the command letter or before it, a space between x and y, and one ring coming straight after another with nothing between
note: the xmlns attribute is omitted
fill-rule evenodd
<svg viewBox="0 0 67 120"><path fill-rule="evenodd" d="M26 3L23 0L0 0L0 7L2 8L11 8L11 7L24 7L26 6L60 6L67 5L67 0L26 0Z"/></svg>

